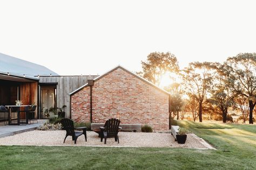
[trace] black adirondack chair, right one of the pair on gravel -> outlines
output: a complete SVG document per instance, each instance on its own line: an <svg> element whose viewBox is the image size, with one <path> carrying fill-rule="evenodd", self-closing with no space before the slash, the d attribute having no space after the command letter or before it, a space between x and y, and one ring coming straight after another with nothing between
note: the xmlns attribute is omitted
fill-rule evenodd
<svg viewBox="0 0 256 170"><path fill-rule="evenodd" d="M119 144L119 138L118 138L118 130L119 124L121 121L116 118L111 118L106 121L104 127L99 127L101 135L100 135L100 141L104 140L104 144L106 144L106 138L114 137L114 141L117 141Z"/></svg>

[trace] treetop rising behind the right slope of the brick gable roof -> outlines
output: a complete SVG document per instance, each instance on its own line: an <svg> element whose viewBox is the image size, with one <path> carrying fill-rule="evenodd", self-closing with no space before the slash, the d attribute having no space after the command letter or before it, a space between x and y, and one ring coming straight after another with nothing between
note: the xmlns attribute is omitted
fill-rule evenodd
<svg viewBox="0 0 256 170"><path fill-rule="evenodd" d="M159 86L161 77L166 72L179 72L177 58L174 54L153 52L147 56L146 61L142 61L143 72L137 72L145 79L151 81L153 84Z"/></svg>

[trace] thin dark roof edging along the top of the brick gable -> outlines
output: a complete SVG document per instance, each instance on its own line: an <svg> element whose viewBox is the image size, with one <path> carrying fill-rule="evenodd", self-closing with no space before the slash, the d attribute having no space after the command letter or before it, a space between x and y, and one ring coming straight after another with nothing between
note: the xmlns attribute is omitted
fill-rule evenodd
<svg viewBox="0 0 256 170"><path fill-rule="evenodd" d="M165 94L167 94L167 95L170 95L170 93L168 93L166 90L157 87L156 85L154 85L154 84L151 83L150 81L147 81L147 80L144 79L143 77L141 77L141 76L139 76L139 75L137 75L137 74L132 73L130 70L128 70L128 69L126 69L126 68L124 68L123 66L120 66L120 65L118 65L117 67L114 67L113 69L109 70L108 72L106 72L106 73L104 73L104 74L102 74L102 75L96 77L95 79L93 79L93 82L98 81L98 80L101 79L102 77L106 76L106 75L109 74L109 73L112 73L114 70L116 70L116 69L118 69L118 68L123 69L125 72L127 72L127 73L133 75L134 77L137 77L138 79L140 79L140 80L144 81L145 83L149 84L150 86L152 86L152 87L154 87L154 88L156 88L156 89L162 91L163 93L165 93ZM84 89L84 88L87 87L87 86L89 86L88 83L84 84L84 86L79 87L79 88L76 89L75 91L72 91L69 95L76 94L78 91Z"/></svg>

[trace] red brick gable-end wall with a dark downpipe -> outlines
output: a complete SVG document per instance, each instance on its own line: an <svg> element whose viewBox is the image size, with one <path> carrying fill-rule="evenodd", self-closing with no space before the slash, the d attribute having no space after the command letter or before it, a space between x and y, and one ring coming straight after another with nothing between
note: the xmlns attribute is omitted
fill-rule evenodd
<svg viewBox="0 0 256 170"><path fill-rule="evenodd" d="M123 124L149 124L155 131L168 130L169 96L167 91L117 66L70 93L71 118L93 123L118 118Z"/></svg>

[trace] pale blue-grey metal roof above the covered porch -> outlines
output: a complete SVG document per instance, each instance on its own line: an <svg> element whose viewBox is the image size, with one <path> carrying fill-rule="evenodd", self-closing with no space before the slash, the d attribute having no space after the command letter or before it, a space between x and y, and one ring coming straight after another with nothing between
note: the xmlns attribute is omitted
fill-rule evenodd
<svg viewBox="0 0 256 170"><path fill-rule="evenodd" d="M26 78L34 80L38 79L37 75L58 75L44 66L2 53L0 53L0 73L9 73L10 76L18 77L23 77L25 74Z"/></svg>

